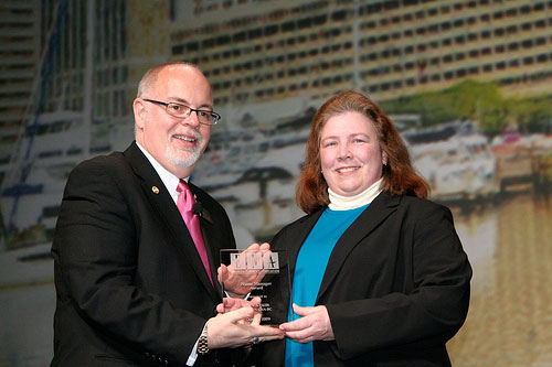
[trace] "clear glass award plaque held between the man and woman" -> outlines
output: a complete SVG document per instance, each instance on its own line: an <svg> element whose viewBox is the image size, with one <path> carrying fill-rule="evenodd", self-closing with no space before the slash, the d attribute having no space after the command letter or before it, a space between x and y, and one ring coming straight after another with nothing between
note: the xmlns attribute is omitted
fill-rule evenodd
<svg viewBox="0 0 552 367"><path fill-rule="evenodd" d="M258 296L262 325L287 321L291 287L286 250L222 249L221 265L229 270L221 279L223 296L226 292L247 300Z"/></svg>

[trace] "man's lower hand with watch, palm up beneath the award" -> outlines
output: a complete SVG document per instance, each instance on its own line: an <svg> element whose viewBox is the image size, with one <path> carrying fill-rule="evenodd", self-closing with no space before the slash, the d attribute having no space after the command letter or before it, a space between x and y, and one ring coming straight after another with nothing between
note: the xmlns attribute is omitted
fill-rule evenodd
<svg viewBox="0 0 552 367"><path fill-rule="evenodd" d="M209 319L206 323L209 348L235 348L253 344L254 338L255 343L284 338L284 332L276 327L246 322L253 319L254 310L251 306L220 313Z"/></svg>

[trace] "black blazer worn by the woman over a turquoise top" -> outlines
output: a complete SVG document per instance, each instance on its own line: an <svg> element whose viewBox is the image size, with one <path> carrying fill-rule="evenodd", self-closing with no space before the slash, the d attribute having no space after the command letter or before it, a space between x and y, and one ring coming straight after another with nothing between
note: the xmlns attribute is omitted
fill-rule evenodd
<svg viewBox="0 0 552 367"><path fill-rule="evenodd" d="M279 231L291 274L322 209ZM380 194L338 240L316 305L336 339L314 342L315 366L449 365L445 343L468 310L471 268L450 211L426 199ZM284 310L287 313L287 310ZM285 343L263 343L261 366L283 366Z"/></svg>

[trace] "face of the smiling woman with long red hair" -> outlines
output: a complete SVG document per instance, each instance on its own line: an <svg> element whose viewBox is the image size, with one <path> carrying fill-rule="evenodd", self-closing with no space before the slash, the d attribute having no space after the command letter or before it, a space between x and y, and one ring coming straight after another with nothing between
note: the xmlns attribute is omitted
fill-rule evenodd
<svg viewBox="0 0 552 367"><path fill-rule="evenodd" d="M382 175L382 152L372 121L359 112L343 112L326 121L320 133L320 161L328 186L338 195L354 196Z"/></svg>

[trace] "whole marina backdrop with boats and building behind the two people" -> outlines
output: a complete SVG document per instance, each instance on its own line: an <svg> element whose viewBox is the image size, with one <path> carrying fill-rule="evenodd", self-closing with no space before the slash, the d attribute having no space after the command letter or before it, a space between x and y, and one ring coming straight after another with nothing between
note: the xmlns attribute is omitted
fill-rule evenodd
<svg viewBox="0 0 552 367"><path fill-rule="evenodd" d="M315 111L391 117L474 267L455 366L552 366L552 1L2 0L0 366L44 366L68 172L134 140L139 78L198 64L223 116L192 181L241 247L301 216ZM77 239L75 239L77 240Z"/></svg>

